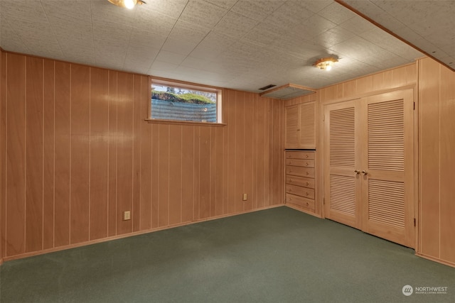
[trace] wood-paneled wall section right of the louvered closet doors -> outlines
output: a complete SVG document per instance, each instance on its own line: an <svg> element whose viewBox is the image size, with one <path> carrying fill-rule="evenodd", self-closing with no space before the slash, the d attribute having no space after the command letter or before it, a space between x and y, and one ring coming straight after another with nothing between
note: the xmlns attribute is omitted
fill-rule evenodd
<svg viewBox="0 0 455 303"><path fill-rule="evenodd" d="M455 266L455 72L419 60L419 248Z"/></svg>

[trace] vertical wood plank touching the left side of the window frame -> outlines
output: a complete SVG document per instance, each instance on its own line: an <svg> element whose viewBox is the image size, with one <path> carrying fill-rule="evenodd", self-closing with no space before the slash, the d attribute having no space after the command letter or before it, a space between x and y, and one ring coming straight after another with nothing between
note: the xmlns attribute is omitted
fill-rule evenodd
<svg viewBox="0 0 455 303"><path fill-rule="evenodd" d="M149 94L149 78L141 78L141 96ZM149 110L149 98L139 98L141 111L138 119L146 117ZM140 201L140 221L141 231L151 228L151 125L141 123L141 201Z"/></svg>

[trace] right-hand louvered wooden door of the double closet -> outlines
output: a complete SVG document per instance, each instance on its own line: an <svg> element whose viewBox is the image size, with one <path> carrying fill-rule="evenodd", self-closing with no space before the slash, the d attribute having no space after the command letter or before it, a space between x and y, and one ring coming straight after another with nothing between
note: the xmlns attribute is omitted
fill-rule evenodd
<svg viewBox="0 0 455 303"><path fill-rule="evenodd" d="M414 247L412 89L361 101L363 231Z"/></svg>

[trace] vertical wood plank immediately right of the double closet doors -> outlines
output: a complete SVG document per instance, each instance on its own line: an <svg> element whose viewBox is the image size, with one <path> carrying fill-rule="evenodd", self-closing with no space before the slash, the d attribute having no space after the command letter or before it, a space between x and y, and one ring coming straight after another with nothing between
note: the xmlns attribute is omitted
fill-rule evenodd
<svg viewBox="0 0 455 303"><path fill-rule="evenodd" d="M419 66L420 252L439 258L439 64Z"/></svg>

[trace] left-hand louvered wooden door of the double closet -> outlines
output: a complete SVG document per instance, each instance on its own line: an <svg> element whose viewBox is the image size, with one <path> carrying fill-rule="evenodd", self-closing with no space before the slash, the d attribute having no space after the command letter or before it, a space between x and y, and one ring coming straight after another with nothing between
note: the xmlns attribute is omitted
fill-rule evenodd
<svg viewBox="0 0 455 303"><path fill-rule="evenodd" d="M360 179L356 157L355 128L358 123L355 101L329 104L325 115L324 188L326 218L360 228Z"/></svg>

